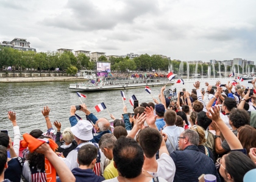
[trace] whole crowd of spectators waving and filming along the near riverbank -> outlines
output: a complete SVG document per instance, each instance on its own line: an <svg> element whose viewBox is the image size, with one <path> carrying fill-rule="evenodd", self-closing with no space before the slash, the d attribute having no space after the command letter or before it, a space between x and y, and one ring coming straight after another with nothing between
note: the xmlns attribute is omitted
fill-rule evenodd
<svg viewBox="0 0 256 182"><path fill-rule="evenodd" d="M247 172L256 173L255 81L252 89L205 83L206 92L197 81L191 92L177 90L176 102L165 98L162 87L159 99L140 103L134 113L124 106L120 119L110 115L112 122L85 104L71 106L70 127L63 130L45 106L46 132L34 129L23 140L10 111L14 136L12 141L1 130L0 181L178 182L207 175L243 181Z"/></svg>

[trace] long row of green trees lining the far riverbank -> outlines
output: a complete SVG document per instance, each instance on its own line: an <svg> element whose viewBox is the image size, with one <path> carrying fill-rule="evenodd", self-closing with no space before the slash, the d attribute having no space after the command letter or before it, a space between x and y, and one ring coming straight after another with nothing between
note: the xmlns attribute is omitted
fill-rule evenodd
<svg viewBox="0 0 256 182"><path fill-rule="evenodd" d="M126 72L127 70L155 70L157 71L168 71L172 69L175 73L181 74L187 73L187 62L171 61L167 58L162 58L160 55L140 55L137 58L129 59L126 58L115 58L110 57L108 60L105 56L99 57L100 62L110 62L111 70ZM181 64L181 65L180 65ZM182 66L183 64L183 66ZM170 65L172 65L170 67ZM95 62L91 62L83 53L80 53L77 57L72 52L64 52L62 54L58 52L21 52L12 48L2 47L0 49L0 67L14 66L16 70L36 69L36 70L54 70L59 68L60 70L68 70L68 72L76 73L75 71L81 69L94 70L96 69ZM219 65L212 65L215 70L219 70ZM252 70L252 65L249 66ZM196 72L196 64L189 65L189 72ZM220 65L221 72L225 71L225 66ZM236 70L243 72L241 66L236 66ZM230 66L226 67L227 72L231 72ZM197 73L208 74L208 64L197 64ZM237 72L237 71L236 71ZM244 72L247 72L244 68Z"/></svg>

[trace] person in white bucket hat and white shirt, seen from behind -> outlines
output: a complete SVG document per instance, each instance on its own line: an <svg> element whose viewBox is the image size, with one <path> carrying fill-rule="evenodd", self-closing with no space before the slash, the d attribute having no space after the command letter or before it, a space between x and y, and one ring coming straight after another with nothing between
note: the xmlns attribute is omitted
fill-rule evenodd
<svg viewBox="0 0 256 182"><path fill-rule="evenodd" d="M68 153L68 156L64 158L64 161L68 168L72 170L75 167L79 167L79 164L77 163L77 153L80 147L86 144L92 144L98 147L98 144L91 143L91 140L93 140L93 125L90 123L90 121L80 120L77 122L75 126L71 127L70 130L73 133L74 138L77 142L77 147L76 149ZM104 166L107 166L105 162L109 163L108 160L106 160L104 153L102 153L101 150L99 150L98 159L93 169L96 175L102 175L102 173L104 172Z"/></svg>

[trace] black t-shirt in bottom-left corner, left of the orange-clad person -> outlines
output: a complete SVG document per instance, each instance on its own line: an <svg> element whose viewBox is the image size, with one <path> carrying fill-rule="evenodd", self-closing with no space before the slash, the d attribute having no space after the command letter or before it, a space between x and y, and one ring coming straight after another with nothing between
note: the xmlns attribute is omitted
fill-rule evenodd
<svg viewBox="0 0 256 182"><path fill-rule="evenodd" d="M23 158L12 158L7 164L8 168L4 172L4 178L12 182L20 182L23 170Z"/></svg>

